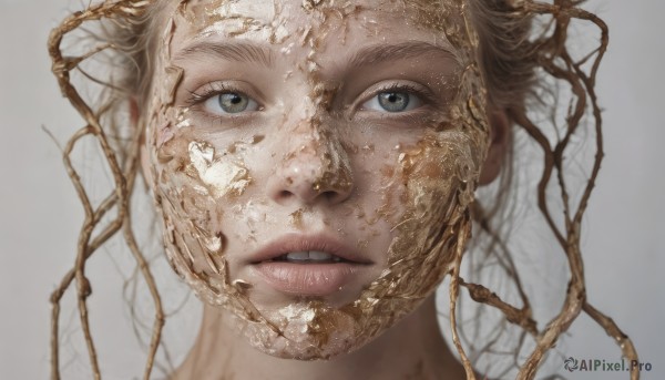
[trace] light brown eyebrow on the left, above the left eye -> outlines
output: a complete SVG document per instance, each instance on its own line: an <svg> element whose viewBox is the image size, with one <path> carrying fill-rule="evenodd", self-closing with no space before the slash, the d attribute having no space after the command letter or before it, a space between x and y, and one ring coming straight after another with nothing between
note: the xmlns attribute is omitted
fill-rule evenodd
<svg viewBox="0 0 665 380"><path fill-rule="evenodd" d="M197 57L216 57L227 61L238 61L246 63L259 63L265 66L272 66L274 63L273 51L252 43L212 43L197 42L178 51L174 60L192 60Z"/></svg>

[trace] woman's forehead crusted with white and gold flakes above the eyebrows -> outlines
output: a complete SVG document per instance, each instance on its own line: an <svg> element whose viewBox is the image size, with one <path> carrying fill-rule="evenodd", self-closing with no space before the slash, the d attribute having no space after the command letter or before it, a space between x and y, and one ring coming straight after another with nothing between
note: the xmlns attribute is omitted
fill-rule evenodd
<svg viewBox="0 0 665 380"><path fill-rule="evenodd" d="M226 37L272 44L307 41L323 48L367 38L439 43L459 30L462 8L456 0L183 0L167 9L178 28L173 43Z"/></svg>

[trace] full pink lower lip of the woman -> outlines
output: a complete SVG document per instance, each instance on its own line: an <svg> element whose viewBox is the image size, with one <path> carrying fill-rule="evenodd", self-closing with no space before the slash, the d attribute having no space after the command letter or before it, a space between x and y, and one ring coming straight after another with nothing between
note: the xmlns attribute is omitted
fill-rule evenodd
<svg viewBox="0 0 665 380"><path fill-rule="evenodd" d="M299 296L328 296L339 291L361 267L360 264L351 263L263 261L255 265L269 286Z"/></svg>

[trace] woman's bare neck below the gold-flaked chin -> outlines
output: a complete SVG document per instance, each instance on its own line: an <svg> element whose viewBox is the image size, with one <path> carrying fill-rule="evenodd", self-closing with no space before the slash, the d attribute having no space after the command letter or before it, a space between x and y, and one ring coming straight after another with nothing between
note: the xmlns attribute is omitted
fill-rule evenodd
<svg viewBox="0 0 665 380"><path fill-rule="evenodd" d="M300 361L263 353L205 306L198 338L173 379L464 379L441 338L434 295L362 348L330 360Z"/></svg>

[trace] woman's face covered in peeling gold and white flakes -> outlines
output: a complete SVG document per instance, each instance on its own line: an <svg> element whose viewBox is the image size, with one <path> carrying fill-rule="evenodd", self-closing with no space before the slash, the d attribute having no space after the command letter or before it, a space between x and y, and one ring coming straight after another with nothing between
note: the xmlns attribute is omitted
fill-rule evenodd
<svg viewBox="0 0 665 380"><path fill-rule="evenodd" d="M462 6L175 3L147 112L173 267L265 352L362 346L463 246L488 129Z"/></svg>

